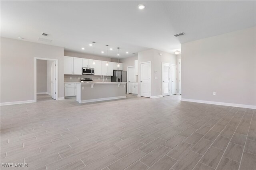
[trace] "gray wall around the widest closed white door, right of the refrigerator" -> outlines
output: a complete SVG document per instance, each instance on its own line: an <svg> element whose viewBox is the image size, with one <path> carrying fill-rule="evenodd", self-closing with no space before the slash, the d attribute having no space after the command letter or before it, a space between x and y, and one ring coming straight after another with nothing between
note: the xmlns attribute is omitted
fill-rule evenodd
<svg viewBox="0 0 256 170"><path fill-rule="evenodd" d="M159 55L160 53L162 55ZM138 81L140 80L140 63L147 61L151 61L151 96L160 96L162 95L162 63L176 64L176 55L156 49L139 52ZM138 84L138 94L140 94L140 84Z"/></svg>

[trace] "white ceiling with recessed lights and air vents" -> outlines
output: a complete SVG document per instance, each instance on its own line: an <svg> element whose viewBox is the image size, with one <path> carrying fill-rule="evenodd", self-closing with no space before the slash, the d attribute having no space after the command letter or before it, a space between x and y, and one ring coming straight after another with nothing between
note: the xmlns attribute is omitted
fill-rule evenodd
<svg viewBox="0 0 256 170"><path fill-rule="evenodd" d="M1 36L66 51L131 57L146 49L173 53L180 44L256 25L256 1L1 1ZM138 4L146 8L139 10ZM176 33L185 35L174 37ZM48 33L43 36L42 33ZM52 42L38 41L38 38ZM81 48L84 47L85 50ZM105 51L104 54L101 51ZM129 53L126 54L126 51Z"/></svg>

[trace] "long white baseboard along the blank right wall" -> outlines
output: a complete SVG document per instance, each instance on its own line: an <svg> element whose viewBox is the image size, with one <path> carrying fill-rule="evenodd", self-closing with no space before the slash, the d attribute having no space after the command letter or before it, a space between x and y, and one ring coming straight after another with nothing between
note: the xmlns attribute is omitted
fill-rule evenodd
<svg viewBox="0 0 256 170"><path fill-rule="evenodd" d="M206 100L194 100L194 99L184 99L184 98L181 98L181 101L195 102L195 103L204 103L204 104L215 104L215 105L232 106L232 107L243 107L243 108L248 108L248 109L256 109L256 106L254 106L254 105L246 105L246 104L213 102L213 101L206 101Z"/></svg>

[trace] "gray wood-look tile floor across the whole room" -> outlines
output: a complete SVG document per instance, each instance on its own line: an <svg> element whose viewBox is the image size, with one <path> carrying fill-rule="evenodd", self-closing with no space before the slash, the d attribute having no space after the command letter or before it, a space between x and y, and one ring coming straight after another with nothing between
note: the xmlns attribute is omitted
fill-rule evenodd
<svg viewBox="0 0 256 170"><path fill-rule="evenodd" d="M0 151L1 163L28 164L2 169L255 170L256 113L180 96L78 104L42 95L1 107Z"/></svg>

